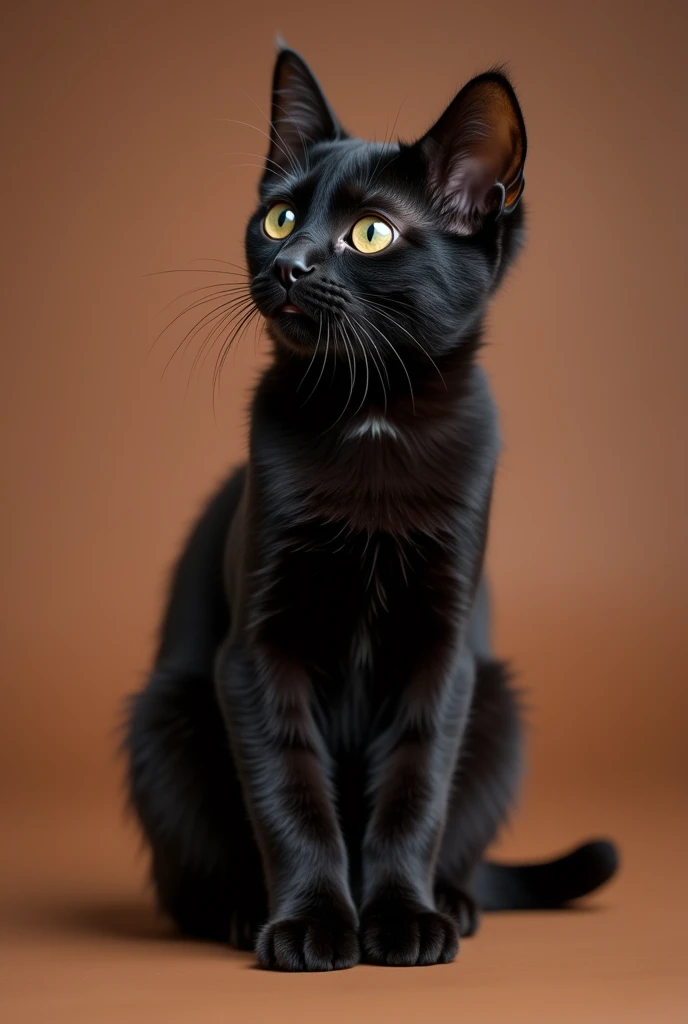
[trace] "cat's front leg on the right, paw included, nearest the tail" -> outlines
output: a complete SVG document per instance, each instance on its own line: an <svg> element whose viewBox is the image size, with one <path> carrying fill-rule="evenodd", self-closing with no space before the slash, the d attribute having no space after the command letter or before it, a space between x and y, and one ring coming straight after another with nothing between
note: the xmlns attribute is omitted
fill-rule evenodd
<svg viewBox="0 0 688 1024"><path fill-rule="evenodd" d="M372 752L360 914L368 963L426 966L457 955L457 924L437 909L433 880L473 682L468 654L439 681L411 680L396 721Z"/></svg>

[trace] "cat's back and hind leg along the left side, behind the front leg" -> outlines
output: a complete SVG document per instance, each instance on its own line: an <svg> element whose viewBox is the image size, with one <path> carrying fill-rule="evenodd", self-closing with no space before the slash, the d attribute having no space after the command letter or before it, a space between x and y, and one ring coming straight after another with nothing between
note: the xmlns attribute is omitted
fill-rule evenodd
<svg viewBox="0 0 688 1024"><path fill-rule="evenodd" d="M240 469L187 538L156 666L129 707L125 746L129 802L150 848L161 909L187 934L252 947L267 918L265 889L213 681L230 618L224 550L244 484Z"/></svg>

